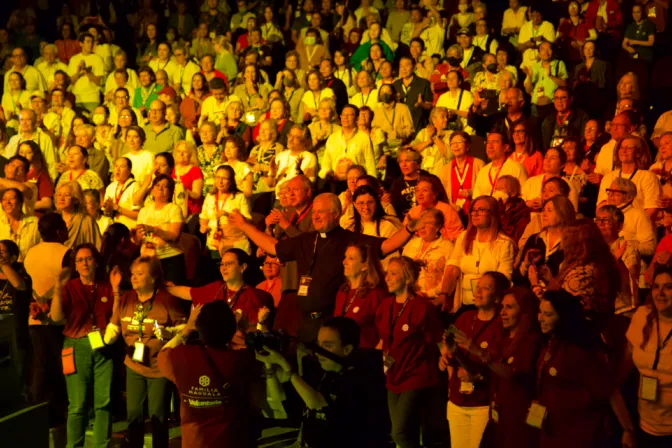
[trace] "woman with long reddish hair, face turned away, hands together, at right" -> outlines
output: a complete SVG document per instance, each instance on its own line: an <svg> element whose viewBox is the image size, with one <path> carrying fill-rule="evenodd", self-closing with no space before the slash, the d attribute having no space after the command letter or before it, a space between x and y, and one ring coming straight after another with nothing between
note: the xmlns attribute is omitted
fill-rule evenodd
<svg viewBox="0 0 672 448"><path fill-rule="evenodd" d="M590 315L613 313L621 284L611 276L619 270L597 225L588 219L578 219L565 226L560 248L564 260L550 282L536 270L529 271L528 278L537 297L543 297L547 290L562 289L577 297Z"/></svg>

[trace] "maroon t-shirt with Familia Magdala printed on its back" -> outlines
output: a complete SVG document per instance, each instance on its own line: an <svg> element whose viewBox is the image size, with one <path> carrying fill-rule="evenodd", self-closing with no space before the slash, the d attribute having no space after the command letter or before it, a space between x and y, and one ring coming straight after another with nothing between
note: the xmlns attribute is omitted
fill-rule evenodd
<svg viewBox="0 0 672 448"><path fill-rule="evenodd" d="M212 358L219 378L203 350ZM180 346L159 353L159 369L180 392L183 447L249 448L252 409L250 388L261 381L261 363L250 350L219 350L198 345ZM218 390L224 389L225 397Z"/></svg>

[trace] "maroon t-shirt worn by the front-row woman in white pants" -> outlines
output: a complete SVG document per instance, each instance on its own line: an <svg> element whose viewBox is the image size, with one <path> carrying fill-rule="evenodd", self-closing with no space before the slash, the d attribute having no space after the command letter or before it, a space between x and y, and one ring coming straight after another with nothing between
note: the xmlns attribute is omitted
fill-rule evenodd
<svg viewBox="0 0 672 448"><path fill-rule="evenodd" d="M502 339L502 323L499 316L493 321L479 320L476 315L477 310L464 312L455 322L455 326L467 335L472 343L481 349L488 350L493 359L500 353ZM461 350L461 349L460 349ZM472 361L479 362L480 359L472 354L467 355ZM470 394L460 392L460 379L457 377L457 368L459 364L453 361L455 370L450 377L448 390L450 391L450 401L457 406L488 406L490 404L490 370L487 366L479 371L484 377L484 381L474 383L474 391Z"/></svg>

